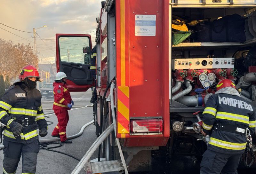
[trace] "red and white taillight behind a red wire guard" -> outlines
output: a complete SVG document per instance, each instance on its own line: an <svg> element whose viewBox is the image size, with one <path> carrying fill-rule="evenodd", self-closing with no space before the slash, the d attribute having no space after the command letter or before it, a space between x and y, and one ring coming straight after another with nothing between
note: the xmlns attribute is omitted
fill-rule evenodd
<svg viewBox="0 0 256 174"><path fill-rule="evenodd" d="M137 119L130 122L131 133L160 133L163 132L162 119Z"/></svg>

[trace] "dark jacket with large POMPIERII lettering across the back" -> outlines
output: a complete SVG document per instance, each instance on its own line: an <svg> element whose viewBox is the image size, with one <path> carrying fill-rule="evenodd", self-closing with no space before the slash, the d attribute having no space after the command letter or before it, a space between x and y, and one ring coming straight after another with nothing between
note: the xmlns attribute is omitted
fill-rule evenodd
<svg viewBox="0 0 256 174"><path fill-rule="evenodd" d="M255 131L255 110L246 100L226 93L213 94L203 112L203 131L211 136L208 149L243 154L246 128Z"/></svg>

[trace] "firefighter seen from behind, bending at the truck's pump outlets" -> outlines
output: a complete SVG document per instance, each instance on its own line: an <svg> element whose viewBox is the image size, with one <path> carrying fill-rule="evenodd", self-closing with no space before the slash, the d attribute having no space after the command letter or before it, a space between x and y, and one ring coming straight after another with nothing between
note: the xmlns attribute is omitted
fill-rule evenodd
<svg viewBox="0 0 256 174"><path fill-rule="evenodd" d="M200 174L237 174L246 147L246 130L255 131L255 110L228 79L217 84L203 112L203 135L210 135Z"/></svg>

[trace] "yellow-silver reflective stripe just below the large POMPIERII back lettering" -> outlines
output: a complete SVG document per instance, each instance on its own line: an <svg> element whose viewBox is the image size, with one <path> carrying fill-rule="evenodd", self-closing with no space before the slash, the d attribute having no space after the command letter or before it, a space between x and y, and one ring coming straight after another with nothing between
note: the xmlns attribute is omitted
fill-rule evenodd
<svg viewBox="0 0 256 174"><path fill-rule="evenodd" d="M245 115L232 114L228 112L217 112L216 119L232 120L249 124L249 117Z"/></svg>

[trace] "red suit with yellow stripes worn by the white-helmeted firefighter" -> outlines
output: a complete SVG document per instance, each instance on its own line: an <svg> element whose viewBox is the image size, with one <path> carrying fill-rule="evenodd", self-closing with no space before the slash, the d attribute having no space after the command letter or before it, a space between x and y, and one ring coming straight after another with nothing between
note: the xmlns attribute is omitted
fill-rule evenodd
<svg viewBox="0 0 256 174"><path fill-rule="evenodd" d="M60 135L60 141L66 141L66 127L68 124L68 104L71 103L71 96L67 84L53 83L54 103L53 111L58 118L58 124L52 131L52 136Z"/></svg>

